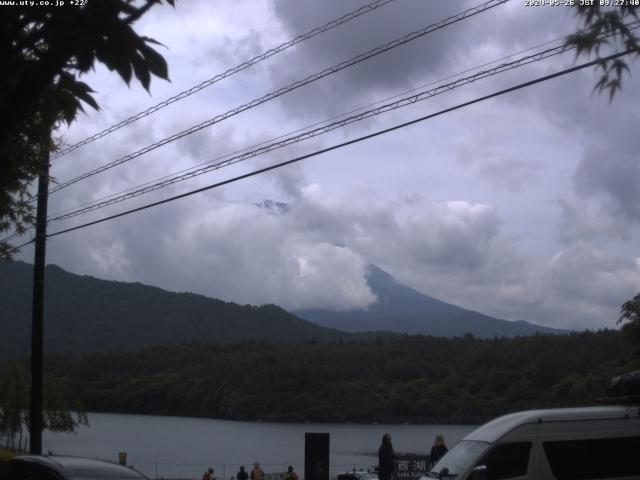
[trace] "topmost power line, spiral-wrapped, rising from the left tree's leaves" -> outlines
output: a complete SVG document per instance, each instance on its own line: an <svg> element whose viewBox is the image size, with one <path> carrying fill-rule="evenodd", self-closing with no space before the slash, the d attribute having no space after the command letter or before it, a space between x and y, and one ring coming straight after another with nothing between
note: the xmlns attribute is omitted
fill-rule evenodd
<svg viewBox="0 0 640 480"><path fill-rule="evenodd" d="M270 50L267 50L264 53L261 53L259 55L256 55L255 57L253 57L250 60L247 60L244 63L241 63L240 65L237 65L233 68L230 68L228 70L226 70L223 73L219 73L218 75L211 77L208 80L205 80L201 83L199 83L198 85L189 88L188 90L184 90L183 92L178 93L177 95L174 95L173 97L170 97L160 103L158 103L157 105L154 105L153 107L148 108L147 110L144 110L142 112L139 112L125 120L122 120L119 123L116 123L114 125L111 125L110 127L90 136L85 138L84 140L81 140L80 142L74 144L74 145L70 145L62 150L60 150L59 152L57 152L55 155L52 156L52 159L56 159L56 158L60 158L66 154L68 154L69 152L72 152L73 150L76 150L77 148L80 148L84 145L87 145L88 143L91 143L95 140L98 140L99 138L102 138L106 135L109 135L112 132L115 132L116 130L121 129L122 127L125 127L133 122L136 122L138 120L140 120L141 118L147 117L155 112L157 112L158 110L163 109L164 107L171 105L172 103L175 103L179 100L182 100L183 98L187 98L191 95L193 95L194 93L199 92L200 90L203 90L207 87L210 87L211 85L213 85L214 83L219 82L220 80L223 80L227 77L230 77L232 75L235 75L236 73L239 73L253 65L255 65L256 63L259 63L263 60L266 60L269 57L272 57L274 55L276 55L277 53L280 52L284 52L285 50L287 50L288 48L293 47L294 45L297 45L298 43L301 43L305 40L308 40L310 38L315 37L316 35L319 35L321 33L324 33L328 30L331 30L335 27L338 27L344 23L347 23L361 15L364 15L366 13L372 12L375 9L382 7L383 5L386 5L387 3L393 2L394 0L377 0L373 3L370 3L368 5L363 5L362 7L349 12L345 15L343 15L340 18L337 18L335 20L331 20L330 22L326 23L325 25L321 26L321 27L316 27L310 31L308 31L305 34L302 35L298 35L297 37L293 38L292 40L289 40L288 42L282 43L280 45L278 45L277 47L274 47Z"/></svg>

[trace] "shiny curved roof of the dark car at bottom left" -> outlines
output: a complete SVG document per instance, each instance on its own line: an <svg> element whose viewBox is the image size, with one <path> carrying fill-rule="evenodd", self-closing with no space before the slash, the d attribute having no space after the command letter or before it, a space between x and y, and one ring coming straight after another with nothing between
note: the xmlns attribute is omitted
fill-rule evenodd
<svg viewBox="0 0 640 480"><path fill-rule="evenodd" d="M20 455L12 461L38 464L66 477L129 479L147 478L140 472L106 460L67 455Z"/></svg>

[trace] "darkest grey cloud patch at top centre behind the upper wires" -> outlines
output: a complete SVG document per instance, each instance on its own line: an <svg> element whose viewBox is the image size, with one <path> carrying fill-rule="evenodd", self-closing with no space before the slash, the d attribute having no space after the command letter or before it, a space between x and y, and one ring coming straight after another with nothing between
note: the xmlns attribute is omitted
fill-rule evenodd
<svg viewBox="0 0 640 480"><path fill-rule="evenodd" d="M363 2L287 2L276 0L274 10L291 36L354 10ZM339 62L369 51L458 13L464 2L397 1L349 22L331 34L305 42L287 52L272 68L272 81L286 85ZM460 34L460 27L450 27ZM450 53L449 32L435 32L332 75L314 87L283 99L285 108L298 115L320 109L335 114L369 101L380 92L402 91L412 78L436 73Z"/></svg>

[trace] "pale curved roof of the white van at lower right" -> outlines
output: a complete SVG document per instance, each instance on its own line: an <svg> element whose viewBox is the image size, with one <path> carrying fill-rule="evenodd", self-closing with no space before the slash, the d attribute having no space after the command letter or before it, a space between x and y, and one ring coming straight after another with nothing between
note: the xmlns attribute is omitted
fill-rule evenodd
<svg viewBox="0 0 640 480"><path fill-rule="evenodd" d="M527 410L511 413L491 420L473 432L463 440L477 440L493 443L514 428L526 423L569 421L569 420L595 420L613 419L640 416L639 407L602 406L582 408L553 408L548 410Z"/></svg>

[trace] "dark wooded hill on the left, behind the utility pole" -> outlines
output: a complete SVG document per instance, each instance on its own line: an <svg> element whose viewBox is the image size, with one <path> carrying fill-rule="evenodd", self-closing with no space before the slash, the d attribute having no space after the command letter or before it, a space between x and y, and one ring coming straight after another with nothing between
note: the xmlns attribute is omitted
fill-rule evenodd
<svg viewBox="0 0 640 480"><path fill-rule="evenodd" d="M33 265L0 263L0 356L30 350ZM45 270L45 350L133 350L184 342L300 342L352 336L275 305L240 306L140 283Z"/></svg>

